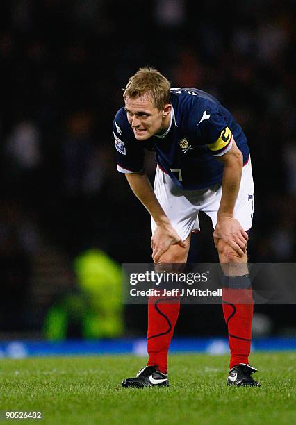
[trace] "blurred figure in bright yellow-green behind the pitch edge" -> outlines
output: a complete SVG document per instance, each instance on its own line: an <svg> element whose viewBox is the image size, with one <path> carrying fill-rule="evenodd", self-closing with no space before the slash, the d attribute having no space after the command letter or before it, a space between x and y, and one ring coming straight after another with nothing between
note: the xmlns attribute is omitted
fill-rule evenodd
<svg viewBox="0 0 296 425"><path fill-rule="evenodd" d="M74 260L78 291L65 294L49 308L44 333L64 340L69 328L83 338L115 338L124 331L121 267L104 251L88 249ZM77 335L75 335L77 336Z"/></svg>

